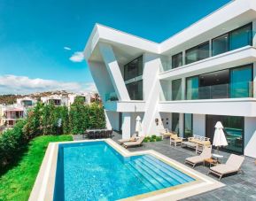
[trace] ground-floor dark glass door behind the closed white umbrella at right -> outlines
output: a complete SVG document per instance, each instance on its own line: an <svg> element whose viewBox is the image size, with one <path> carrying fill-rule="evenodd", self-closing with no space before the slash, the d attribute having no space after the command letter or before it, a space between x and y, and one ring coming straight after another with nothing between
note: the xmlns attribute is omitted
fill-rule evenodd
<svg viewBox="0 0 256 201"><path fill-rule="evenodd" d="M244 152L244 117L206 115L206 136L213 142L214 126L221 121L228 146L223 150L243 154Z"/></svg>

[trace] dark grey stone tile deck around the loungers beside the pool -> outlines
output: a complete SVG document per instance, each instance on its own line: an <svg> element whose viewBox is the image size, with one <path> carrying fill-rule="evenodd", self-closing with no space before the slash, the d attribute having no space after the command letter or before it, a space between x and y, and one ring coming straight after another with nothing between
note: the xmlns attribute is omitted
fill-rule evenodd
<svg viewBox="0 0 256 201"><path fill-rule="evenodd" d="M112 140L116 141L121 138L121 135L114 133ZM74 135L74 140L81 140L81 135ZM170 146L169 139L164 139L160 142L144 143L144 146L129 148L128 151L144 151L154 150L161 154L166 155L169 158L173 158L181 163L184 163L185 158L195 156L196 153L190 149L181 148L181 146ZM213 150L214 151L214 150ZM224 156L223 162L229 158L229 153L221 152ZM207 174L208 167L196 166L194 168L202 174ZM235 174L227 177L223 177L221 182L226 184L225 187L215 189L213 191L199 194L194 197L188 197L183 200L256 200L256 165L253 158L246 157L242 166L244 174ZM213 179L218 180L212 174L209 174Z"/></svg>

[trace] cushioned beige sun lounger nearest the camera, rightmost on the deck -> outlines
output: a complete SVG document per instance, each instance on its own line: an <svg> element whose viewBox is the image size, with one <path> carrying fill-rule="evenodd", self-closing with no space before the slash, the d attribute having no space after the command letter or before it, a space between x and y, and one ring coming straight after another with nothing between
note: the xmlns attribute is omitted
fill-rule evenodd
<svg viewBox="0 0 256 201"><path fill-rule="evenodd" d="M226 164L221 164L219 166L213 166L210 168L208 174L218 175L221 180L222 176L225 174L238 173L241 171L241 166L244 162L243 156L237 156L236 154L231 154Z"/></svg>

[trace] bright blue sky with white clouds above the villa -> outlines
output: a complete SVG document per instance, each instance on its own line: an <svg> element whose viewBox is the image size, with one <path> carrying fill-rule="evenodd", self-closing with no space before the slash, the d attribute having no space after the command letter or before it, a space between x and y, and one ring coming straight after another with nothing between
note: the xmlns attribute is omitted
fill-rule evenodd
<svg viewBox="0 0 256 201"><path fill-rule="evenodd" d="M0 94L96 90L82 50L96 23L160 43L230 0L1 0Z"/></svg>

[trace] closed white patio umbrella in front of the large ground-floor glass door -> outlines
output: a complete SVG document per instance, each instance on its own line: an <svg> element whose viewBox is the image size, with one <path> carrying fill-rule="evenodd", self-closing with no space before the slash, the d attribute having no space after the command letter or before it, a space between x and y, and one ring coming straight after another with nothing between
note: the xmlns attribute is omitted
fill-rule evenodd
<svg viewBox="0 0 256 201"><path fill-rule="evenodd" d="M213 146L217 147L217 150L219 152L219 148L221 146L227 146L228 142L226 139L226 136L223 131L223 126L221 124L221 121L218 121L215 125L215 132L213 137Z"/></svg>

